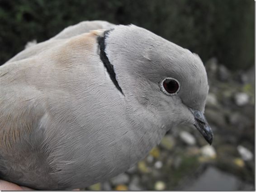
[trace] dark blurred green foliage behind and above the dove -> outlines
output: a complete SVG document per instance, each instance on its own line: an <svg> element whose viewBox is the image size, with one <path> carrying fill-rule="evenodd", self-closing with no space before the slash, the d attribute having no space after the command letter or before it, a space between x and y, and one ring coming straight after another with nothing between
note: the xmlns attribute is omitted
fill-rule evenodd
<svg viewBox="0 0 256 192"><path fill-rule="evenodd" d="M26 42L106 20L147 28L230 69L254 64L254 0L0 0L0 64Z"/></svg>

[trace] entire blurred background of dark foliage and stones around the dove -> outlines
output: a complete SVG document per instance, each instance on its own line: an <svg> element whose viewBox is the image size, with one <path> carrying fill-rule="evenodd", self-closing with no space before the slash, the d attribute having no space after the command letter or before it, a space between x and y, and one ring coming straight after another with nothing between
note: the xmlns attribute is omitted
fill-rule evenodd
<svg viewBox="0 0 256 192"><path fill-rule="evenodd" d="M208 145L175 127L127 172L86 190L255 190L254 0L0 0L0 65L85 20L146 28L202 58Z"/></svg>

